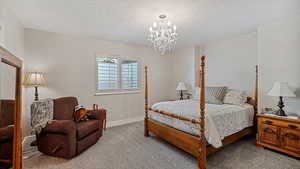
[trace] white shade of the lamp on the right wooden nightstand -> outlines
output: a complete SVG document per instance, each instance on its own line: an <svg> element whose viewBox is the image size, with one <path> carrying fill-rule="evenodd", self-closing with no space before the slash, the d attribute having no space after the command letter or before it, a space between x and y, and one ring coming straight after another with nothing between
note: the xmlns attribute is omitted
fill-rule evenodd
<svg viewBox="0 0 300 169"><path fill-rule="evenodd" d="M269 96L296 97L291 91L287 82L275 82L273 88L268 93Z"/></svg>

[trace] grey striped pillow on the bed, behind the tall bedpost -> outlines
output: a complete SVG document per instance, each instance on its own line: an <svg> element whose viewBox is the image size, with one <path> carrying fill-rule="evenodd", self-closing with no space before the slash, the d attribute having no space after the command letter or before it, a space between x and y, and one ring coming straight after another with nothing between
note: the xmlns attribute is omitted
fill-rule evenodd
<svg viewBox="0 0 300 169"><path fill-rule="evenodd" d="M206 87L205 101L209 104L223 104L227 87ZM199 87L196 88L194 99L199 100Z"/></svg>

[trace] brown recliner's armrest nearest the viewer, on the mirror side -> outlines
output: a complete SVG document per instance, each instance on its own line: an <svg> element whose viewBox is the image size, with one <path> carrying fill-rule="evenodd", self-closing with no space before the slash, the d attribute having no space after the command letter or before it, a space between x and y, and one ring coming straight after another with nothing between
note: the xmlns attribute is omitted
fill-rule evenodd
<svg viewBox="0 0 300 169"><path fill-rule="evenodd" d="M70 134L76 131L76 123L73 120L54 120L47 124L43 132Z"/></svg>

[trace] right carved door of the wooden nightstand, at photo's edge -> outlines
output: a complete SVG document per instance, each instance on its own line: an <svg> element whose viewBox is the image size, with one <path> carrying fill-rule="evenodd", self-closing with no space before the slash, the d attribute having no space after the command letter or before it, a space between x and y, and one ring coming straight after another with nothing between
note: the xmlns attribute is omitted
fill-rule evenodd
<svg viewBox="0 0 300 169"><path fill-rule="evenodd" d="M300 153L300 131L293 129L282 129L281 139L283 148Z"/></svg>

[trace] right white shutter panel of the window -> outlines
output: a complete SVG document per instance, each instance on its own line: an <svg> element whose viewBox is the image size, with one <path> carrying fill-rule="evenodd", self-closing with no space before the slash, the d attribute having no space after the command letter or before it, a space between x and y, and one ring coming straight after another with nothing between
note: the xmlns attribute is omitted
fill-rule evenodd
<svg viewBox="0 0 300 169"><path fill-rule="evenodd" d="M122 61L122 88L135 89L138 88L138 62L137 61Z"/></svg>

